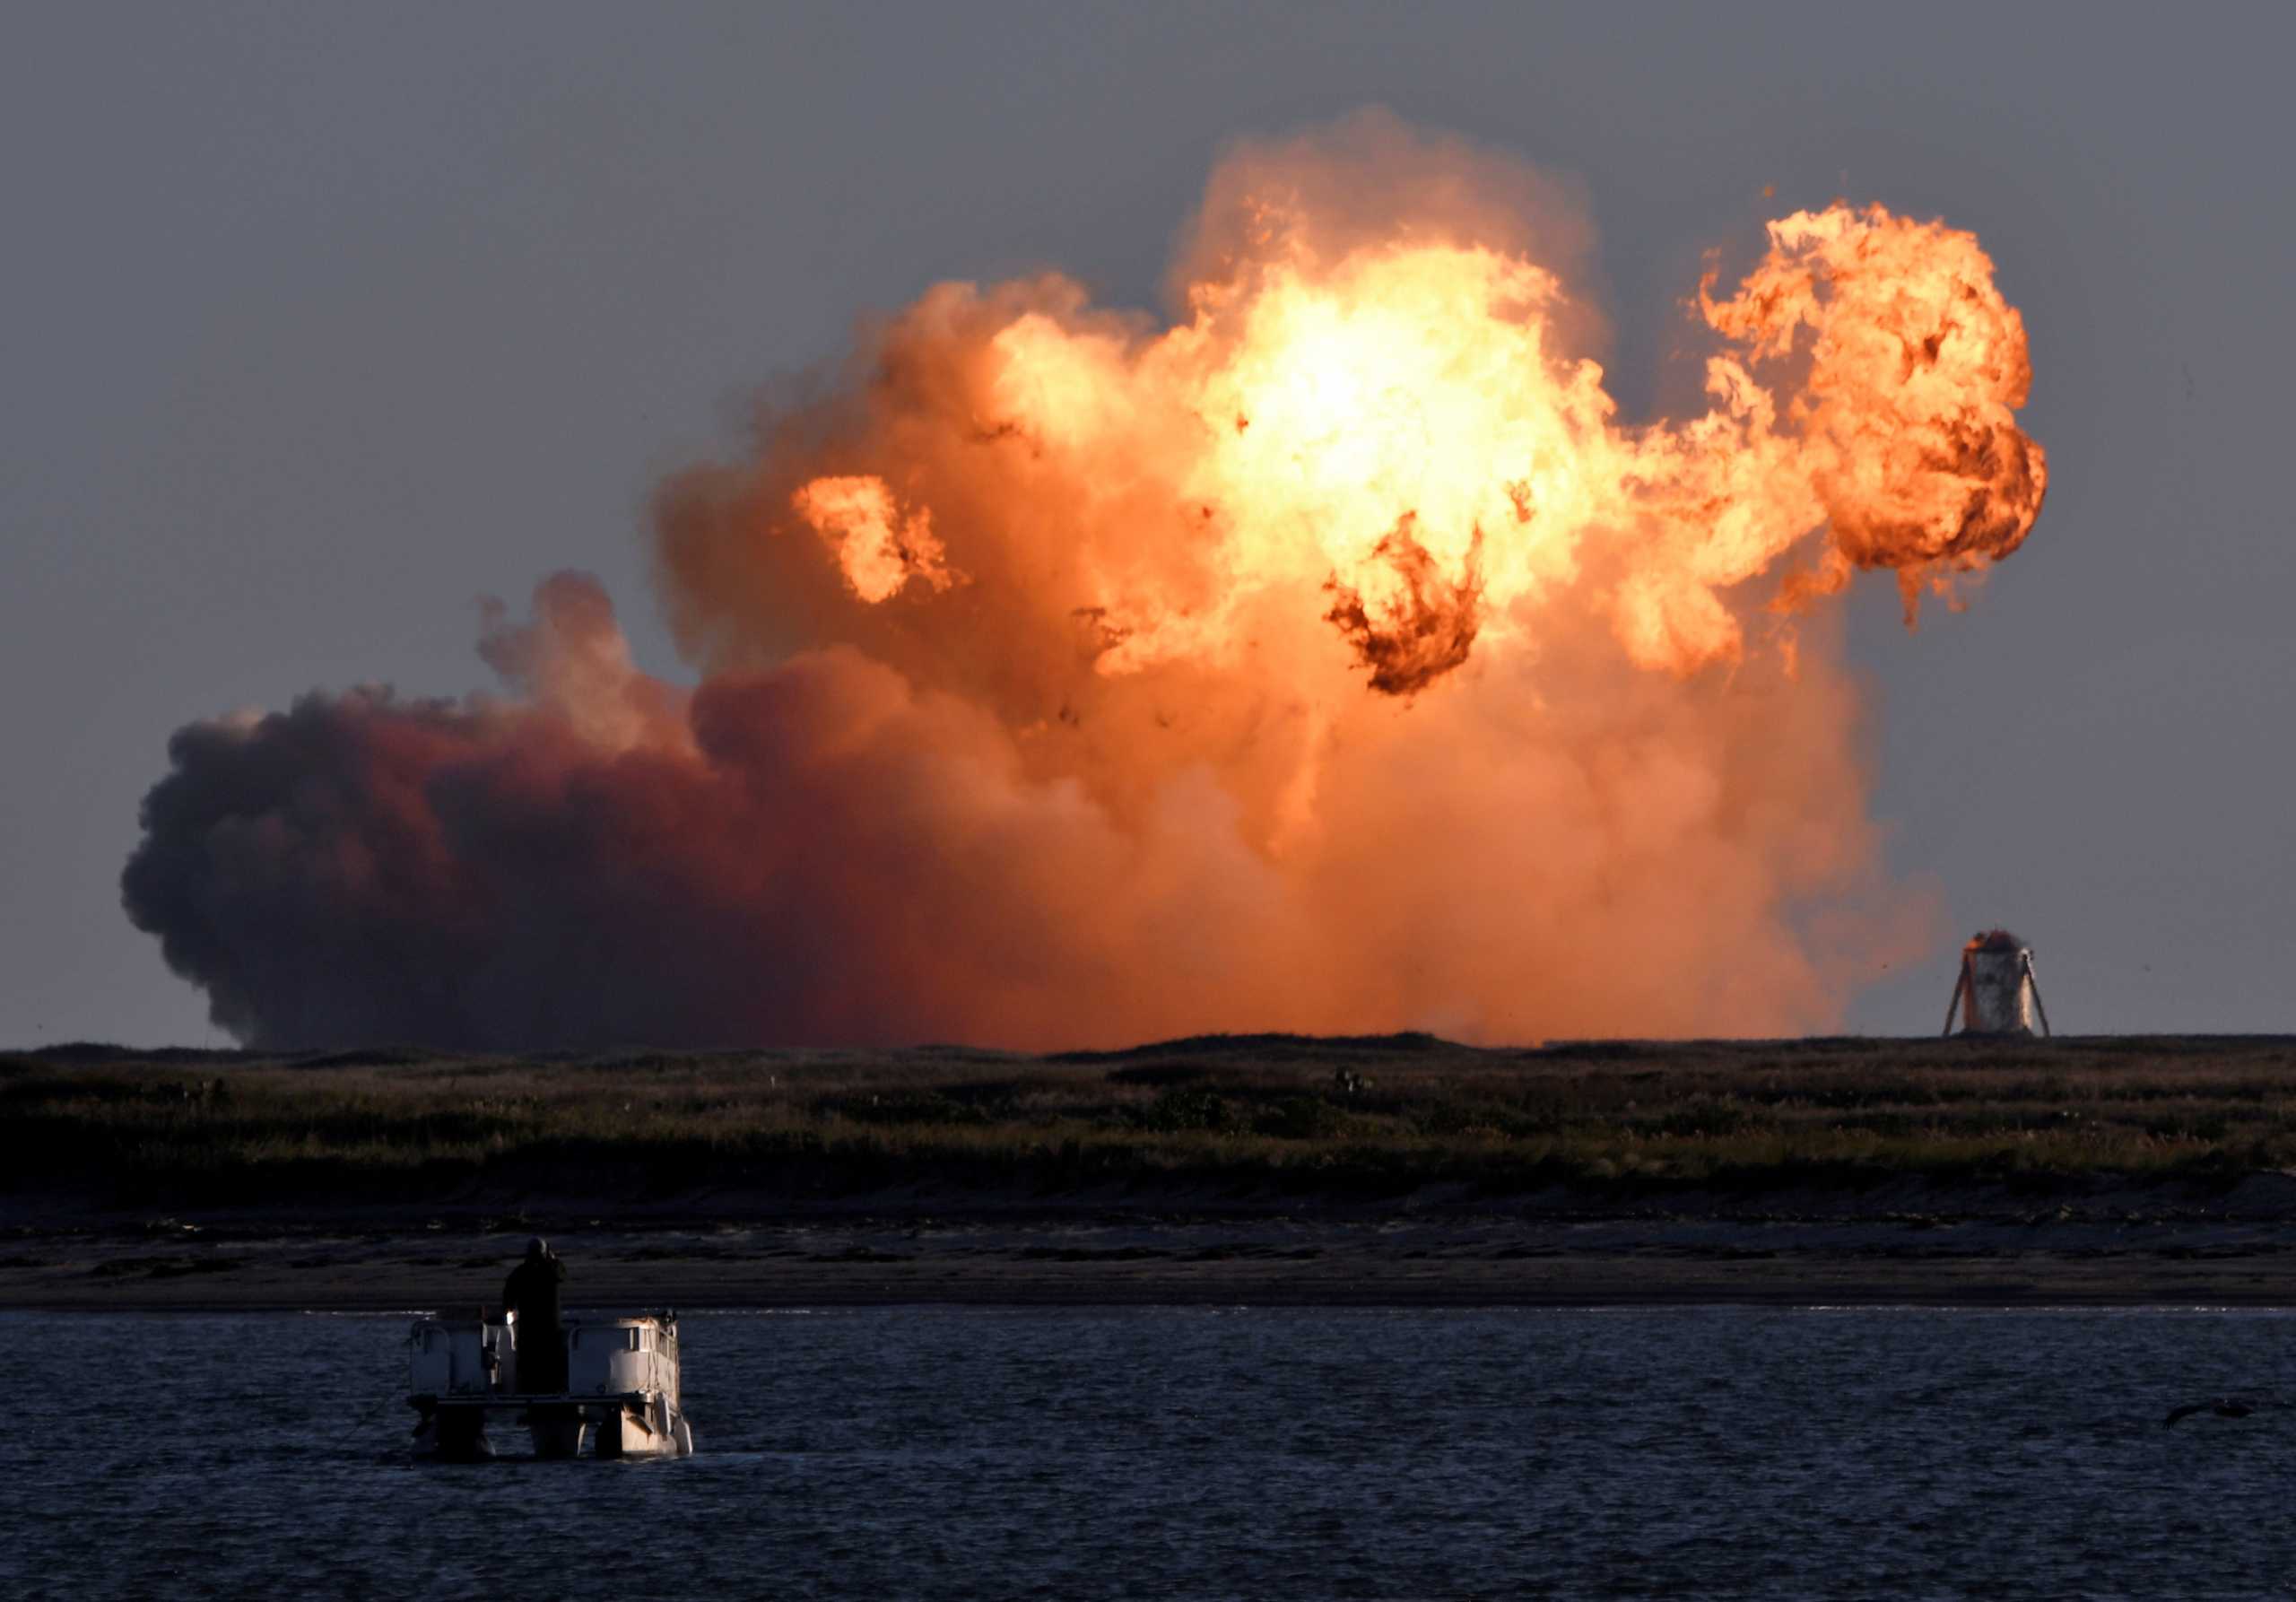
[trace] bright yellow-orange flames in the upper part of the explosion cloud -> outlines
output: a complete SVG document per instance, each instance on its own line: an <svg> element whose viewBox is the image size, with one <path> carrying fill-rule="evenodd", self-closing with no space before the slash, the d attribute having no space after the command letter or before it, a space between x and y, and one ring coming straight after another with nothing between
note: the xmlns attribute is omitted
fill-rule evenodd
<svg viewBox="0 0 2296 1602"><path fill-rule="evenodd" d="M2018 546L2048 475L2014 422L2023 321L1975 236L1837 204L1773 223L1733 296L1713 285L1699 305L1733 347L1708 363L1713 406L1649 429L1619 427L1603 370L1564 353L1545 266L1410 227L1327 255L1263 218L1164 333L1061 280L944 287L895 326L889 370L948 388L889 372L882 434L854 445L921 484L916 510L898 521L882 477L845 473L794 505L882 601L912 576L951 588L934 500L1058 503L1058 549L1026 519L967 516L957 539L1102 620L1100 672L1228 666L1288 606L1394 693L1469 643L1534 645L1557 606L1609 615L1649 668L1736 659L1727 594L1821 528L1793 594L1894 567L1908 617L1924 581Z"/></svg>

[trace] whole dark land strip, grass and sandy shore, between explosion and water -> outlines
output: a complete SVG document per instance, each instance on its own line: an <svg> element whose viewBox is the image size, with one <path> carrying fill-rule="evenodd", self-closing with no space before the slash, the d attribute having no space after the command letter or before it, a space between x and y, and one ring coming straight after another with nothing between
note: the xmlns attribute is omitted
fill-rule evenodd
<svg viewBox="0 0 2296 1602"><path fill-rule="evenodd" d="M0 1306L2296 1304L2296 1040L0 1056Z"/></svg>

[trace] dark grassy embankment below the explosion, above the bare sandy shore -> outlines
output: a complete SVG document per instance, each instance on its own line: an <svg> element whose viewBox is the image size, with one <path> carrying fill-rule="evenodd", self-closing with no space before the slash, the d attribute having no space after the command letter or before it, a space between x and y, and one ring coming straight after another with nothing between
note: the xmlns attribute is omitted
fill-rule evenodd
<svg viewBox="0 0 2296 1602"><path fill-rule="evenodd" d="M1456 1182L2048 1187L2296 1166L2296 1040L1221 1037L990 1051L0 1056L0 1191L99 1205L923 1187L1378 1198Z"/></svg>

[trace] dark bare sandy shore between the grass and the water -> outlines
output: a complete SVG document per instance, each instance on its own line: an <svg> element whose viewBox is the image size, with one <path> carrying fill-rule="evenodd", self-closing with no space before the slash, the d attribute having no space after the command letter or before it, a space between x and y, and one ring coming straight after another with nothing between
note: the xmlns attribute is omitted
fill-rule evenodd
<svg viewBox="0 0 2296 1602"><path fill-rule="evenodd" d="M2273 1212L1915 1216L1123 1214L799 1221L18 1219L0 1306L457 1308L533 1230L574 1306L2280 1306Z"/></svg>

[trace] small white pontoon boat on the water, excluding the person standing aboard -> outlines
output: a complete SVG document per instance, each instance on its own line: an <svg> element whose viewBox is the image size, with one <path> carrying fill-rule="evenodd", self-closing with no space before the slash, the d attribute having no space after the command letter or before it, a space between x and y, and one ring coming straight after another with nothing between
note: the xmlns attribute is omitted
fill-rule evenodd
<svg viewBox="0 0 2296 1602"><path fill-rule="evenodd" d="M526 1425L535 1457L691 1457L677 1400L677 1315L565 1320L565 1391L519 1389L517 1313L501 1322L418 1317L409 1331L406 1405L416 1453L494 1457L487 1425ZM537 1366L540 1368L540 1366Z"/></svg>

